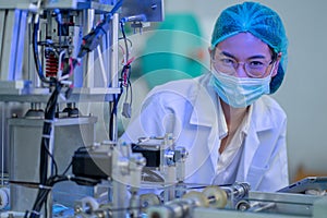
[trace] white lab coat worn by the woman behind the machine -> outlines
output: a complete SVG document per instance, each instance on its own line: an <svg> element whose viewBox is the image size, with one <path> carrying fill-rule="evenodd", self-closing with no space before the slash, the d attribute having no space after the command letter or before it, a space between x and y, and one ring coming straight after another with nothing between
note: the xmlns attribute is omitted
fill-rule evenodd
<svg viewBox="0 0 327 218"><path fill-rule="evenodd" d="M219 157L218 100L208 86L209 76L208 73L154 88L121 137L129 143L142 136L173 133L177 146L184 146L190 153L185 165L185 182L190 183L211 183ZM235 181L249 182L251 190L274 192L289 184L287 117L269 96L254 102L251 116Z"/></svg>

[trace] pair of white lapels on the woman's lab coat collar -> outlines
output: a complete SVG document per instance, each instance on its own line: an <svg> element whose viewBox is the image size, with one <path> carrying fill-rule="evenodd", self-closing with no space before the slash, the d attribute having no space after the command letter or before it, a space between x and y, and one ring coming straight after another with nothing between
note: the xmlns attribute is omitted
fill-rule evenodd
<svg viewBox="0 0 327 218"><path fill-rule="evenodd" d="M197 95L193 95L194 98L192 99L194 110L192 111L190 123L211 128L207 143L209 152L211 153L211 162L214 169L216 169L219 156L218 146L220 144L217 133L221 131L219 131L219 128L221 126L218 125L218 98L213 87L208 85L209 77L210 75L199 77L196 90ZM259 146L258 134L259 132L274 129L277 125L274 117L271 116L271 111L265 104L266 97L267 96L262 96L262 98L256 100L250 108L250 121L247 122L247 126L244 129L244 133L246 134L243 150L244 154L238 172L238 179L241 181L244 181L244 179L250 181L255 180L252 175L247 178L247 174L255 152Z"/></svg>

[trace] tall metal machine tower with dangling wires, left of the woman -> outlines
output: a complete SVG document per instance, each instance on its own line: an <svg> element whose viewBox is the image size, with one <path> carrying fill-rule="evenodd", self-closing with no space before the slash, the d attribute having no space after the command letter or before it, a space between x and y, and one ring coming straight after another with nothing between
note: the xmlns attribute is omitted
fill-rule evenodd
<svg viewBox="0 0 327 218"><path fill-rule="evenodd" d="M133 61L124 27L162 20L158 0L0 3L2 209L51 217L52 205L99 194L97 180L69 177L72 157L97 144L99 128L117 141Z"/></svg>

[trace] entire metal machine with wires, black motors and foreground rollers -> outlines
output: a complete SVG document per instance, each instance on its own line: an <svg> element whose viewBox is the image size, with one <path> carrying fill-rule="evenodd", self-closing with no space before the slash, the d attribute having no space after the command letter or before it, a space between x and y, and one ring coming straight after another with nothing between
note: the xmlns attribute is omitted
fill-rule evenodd
<svg viewBox="0 0 327 218"><path fill-rule="evenodd" d="M162 0L1 1L1 217L327 214L326 178L276 193L187 184L187 150L173 135L118 141L134 61L125 27L134 34L164 16Z"/></svg>

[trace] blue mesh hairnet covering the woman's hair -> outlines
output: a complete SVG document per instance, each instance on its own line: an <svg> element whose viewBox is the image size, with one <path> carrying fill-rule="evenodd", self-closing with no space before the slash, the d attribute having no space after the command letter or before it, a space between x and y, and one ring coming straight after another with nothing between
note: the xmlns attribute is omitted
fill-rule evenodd
<svg viewBox="0 0 327 218"><path fill-rule="evenodd" d="M275 52L282 52L277 75L270 82L270 94L272 94L281 85L287 68L288 39L282 21L275 11L257 2L232 5L223 10L216 21L211 48L228 37L243 32L262 39Z"/></svg>

